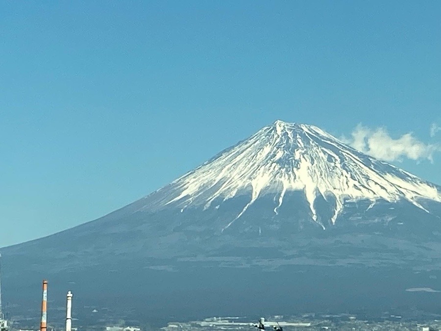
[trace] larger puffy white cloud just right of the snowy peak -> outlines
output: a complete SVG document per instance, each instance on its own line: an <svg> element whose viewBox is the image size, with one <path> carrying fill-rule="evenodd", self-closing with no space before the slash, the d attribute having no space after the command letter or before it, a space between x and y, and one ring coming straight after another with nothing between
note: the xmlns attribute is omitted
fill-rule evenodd
<svg viewBox="0 0 441 331"><path fill-rule="evenodd" d="M405 133L394 139L384 127L370 129L359 124L344 142L356 150L385 161L427 159L433 162L433 154L441 152L438 144L425 144L412 133Z"/></svg>

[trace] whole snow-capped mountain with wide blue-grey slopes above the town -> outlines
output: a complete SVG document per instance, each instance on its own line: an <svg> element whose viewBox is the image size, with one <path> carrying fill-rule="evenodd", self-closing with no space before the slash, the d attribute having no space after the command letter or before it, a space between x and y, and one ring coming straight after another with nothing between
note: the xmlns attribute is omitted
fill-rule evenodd
<svg viewBox="0 0 441 331"><path fill-rule="evenodd" d="M146 295L169 298L174 315L249 312L262 286L280 299L261 303L274 312L338 311L360 296L372 309L379 298L414 307L405 289L438 286L439 252L440 186L282 121L117 211L1 250L17 301L52 277L88 302L128 297L138 319L159 314Z"/></svg>

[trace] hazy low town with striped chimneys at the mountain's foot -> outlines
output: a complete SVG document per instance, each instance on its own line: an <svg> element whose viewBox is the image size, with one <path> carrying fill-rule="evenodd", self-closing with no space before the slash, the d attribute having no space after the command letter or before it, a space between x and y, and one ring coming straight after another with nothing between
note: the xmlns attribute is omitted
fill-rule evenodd
<svg viewBox="0 0 441 331"><path fill-rule="evenodd" d="M0 292L1 293L1 292ZM384 312L382 317L369 320L366 316L353 314L319 314L305 313L300 315L273 315L267 317L226 316L208 317L194 321L170 321L165 325L146 325L139 321L118 319L127 315L107 311L100 319L87 322L86 319L73 318L73 293L66 294L66 306L55 310L65 310L65 318L48 321L48 281L43 280L40 328L36 328L34 318L26 316L5 316L1 310L0 294L0 331L210 331L210 330L273 330L273 331L441 331L441 319L438 316L421 316L420 318L403 318L399 315ZM90 309L92 307L89 307ZM102 310L102 309L101 309ZM105 309L104 309L105 310ZM61 312L61 311L60 311ZM92 313L98 310L93 308ZM34 315L32 313L32 315ZM59 314L58 314L59 315ZM76 314L75 314L76 315Z"/></svg>

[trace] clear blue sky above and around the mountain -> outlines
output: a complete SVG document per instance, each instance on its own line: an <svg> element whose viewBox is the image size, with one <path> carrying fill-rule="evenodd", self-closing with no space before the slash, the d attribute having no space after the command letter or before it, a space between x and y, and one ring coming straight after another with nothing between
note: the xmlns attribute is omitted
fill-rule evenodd
<svg viewBox="0 0 441 331"><path fill-rule="evenodd" d="M0 247L98 218L276 119L441 124L441 1L1 1ZM434 163L396 163L441 184Z"/></svg>

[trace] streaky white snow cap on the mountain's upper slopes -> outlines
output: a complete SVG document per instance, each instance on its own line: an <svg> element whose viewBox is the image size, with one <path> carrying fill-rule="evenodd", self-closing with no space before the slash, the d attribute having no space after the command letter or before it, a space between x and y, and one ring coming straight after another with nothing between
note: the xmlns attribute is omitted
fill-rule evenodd
<svg viewBox="0 0 441 331"><path fill-rule="evenodd" d="M360 153L319 127L282 121L263 127L161 190L167 194L155 202L155 209L173 205L181 212L250 195L224 229L267 194L274 196L277 206L273 212L277 214L289 191L304 192L315 222L314 203L321 195L333 204L333 224L345 201L370 200L372 207L378 200L406 200L421 209L422 199L441 202L440 187Z"/></svg>

